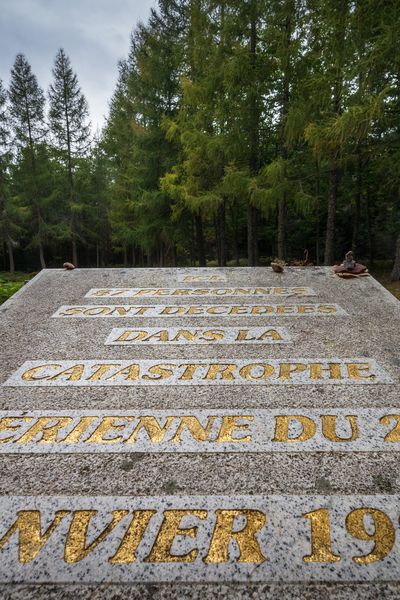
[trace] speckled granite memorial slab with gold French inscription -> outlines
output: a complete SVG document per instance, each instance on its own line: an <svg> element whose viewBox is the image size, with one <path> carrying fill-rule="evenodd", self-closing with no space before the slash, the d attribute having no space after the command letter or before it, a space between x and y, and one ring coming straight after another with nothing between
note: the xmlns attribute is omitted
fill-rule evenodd
<svg viewBox="0 0 400 600"><path fill-rule="evenodd" d="M0 598L400 598L400 303L44 270L0 307Z"/></svg>

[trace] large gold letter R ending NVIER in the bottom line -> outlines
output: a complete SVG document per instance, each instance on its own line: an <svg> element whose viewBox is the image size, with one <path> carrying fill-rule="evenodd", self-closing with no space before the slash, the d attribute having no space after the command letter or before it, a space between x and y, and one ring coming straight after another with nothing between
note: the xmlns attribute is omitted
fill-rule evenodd
<svg viewBox="0 0 400 600"><path fill-rule="evenodd" d="M217 521L212 534L210 548L204 558L206 563L229 562L229 547L234 541L239 550L237 562L261 564L266 557L261 552L256 534L265 526L267 518L260 510L216 510ZM239 517L246 519L240 530L234 531Z"/></svg>

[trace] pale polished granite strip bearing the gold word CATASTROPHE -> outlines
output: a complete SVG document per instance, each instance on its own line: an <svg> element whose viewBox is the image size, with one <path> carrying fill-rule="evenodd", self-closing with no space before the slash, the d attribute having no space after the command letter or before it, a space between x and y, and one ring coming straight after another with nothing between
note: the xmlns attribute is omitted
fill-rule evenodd
<svg viewBox="0 0 400 600"><path fill-rule="evenodd" d="M372 385L392 383L367 358L27 361L6 386Z"/></svg>

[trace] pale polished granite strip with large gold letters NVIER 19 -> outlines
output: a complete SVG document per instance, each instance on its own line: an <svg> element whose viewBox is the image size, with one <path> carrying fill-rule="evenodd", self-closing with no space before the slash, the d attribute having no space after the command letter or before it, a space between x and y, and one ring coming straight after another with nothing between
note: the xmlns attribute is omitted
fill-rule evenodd
<svg viewBox="0 0 400 600"><path fill-rule="evenodd" d="M399 500L1 498L0 580L395 580Z"/></svg>

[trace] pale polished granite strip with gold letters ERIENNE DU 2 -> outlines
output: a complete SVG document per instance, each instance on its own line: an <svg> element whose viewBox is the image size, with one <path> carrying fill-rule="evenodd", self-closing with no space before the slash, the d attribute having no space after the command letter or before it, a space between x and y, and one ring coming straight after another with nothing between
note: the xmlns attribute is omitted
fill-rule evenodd
<svg viewBox="0 0 400 600"><path fill-rule="evenodd" d="M400 410L0 413L0 452L400 451Z"/></svg>

